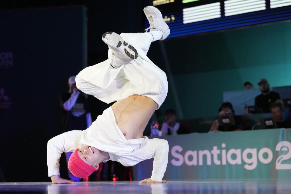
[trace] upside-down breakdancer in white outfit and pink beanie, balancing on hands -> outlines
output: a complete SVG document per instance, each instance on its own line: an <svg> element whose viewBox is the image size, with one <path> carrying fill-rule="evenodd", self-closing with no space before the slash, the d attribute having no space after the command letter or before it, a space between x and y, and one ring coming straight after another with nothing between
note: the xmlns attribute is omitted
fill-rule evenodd
<svg viewBox="0 0 291 194"><path fill-rule="evenodd" d="M108 59L76 76L77 88L82 92L106 103L117 102L105 109L88 129L65 132L48 141L47 163L52 183L75 183L59 176L62 152L73 152L68 167L77 177L88 177L102 161L133 166L154 158L152 176L140 183L166 182L162 178L168 163L168 142L142 135L168 92L166 74L146 54L151 42L164 40L170 30L157 8L147 6L144 12L149 32L104 33L102 40L109 47Z"/></svg>

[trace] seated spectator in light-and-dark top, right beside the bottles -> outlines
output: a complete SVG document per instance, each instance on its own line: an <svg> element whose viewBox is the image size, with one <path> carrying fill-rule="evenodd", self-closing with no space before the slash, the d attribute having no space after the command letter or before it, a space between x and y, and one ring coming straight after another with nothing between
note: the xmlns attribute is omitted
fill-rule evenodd
<svg viewBox="0 0 291 194"><path fill-rule="evenodd" d="M177 135L189 133L179 122L176 122L176 112L173 109L167 109L165 112L165 121L162 124L162 135Z"/></svg>

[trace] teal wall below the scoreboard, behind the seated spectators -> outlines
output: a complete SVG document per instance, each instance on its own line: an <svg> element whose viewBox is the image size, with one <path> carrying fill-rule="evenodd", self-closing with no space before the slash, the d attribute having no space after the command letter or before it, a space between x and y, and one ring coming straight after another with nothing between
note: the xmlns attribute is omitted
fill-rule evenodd
<svg viewBox="0 0 291 194"><path fill-rule="evenodd" d="M158 44L165 44L181 104L181 119L212 117L224 91L260 78L271 87L291 85L291 21L153 43L149 57L166 72ZM172 85L162 105L177 109Z"/></svg>

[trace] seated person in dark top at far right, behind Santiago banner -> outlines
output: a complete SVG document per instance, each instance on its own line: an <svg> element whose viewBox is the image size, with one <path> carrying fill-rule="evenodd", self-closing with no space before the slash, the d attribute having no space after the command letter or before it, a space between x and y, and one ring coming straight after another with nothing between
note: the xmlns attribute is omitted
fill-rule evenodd
<svg viewBox="0 0 291 194"><path fill-rule="evenodd" d="M291 128L291 122L283 118L283 108L281 103L273 102L270 111L277 122L278 128Z"/></svg>

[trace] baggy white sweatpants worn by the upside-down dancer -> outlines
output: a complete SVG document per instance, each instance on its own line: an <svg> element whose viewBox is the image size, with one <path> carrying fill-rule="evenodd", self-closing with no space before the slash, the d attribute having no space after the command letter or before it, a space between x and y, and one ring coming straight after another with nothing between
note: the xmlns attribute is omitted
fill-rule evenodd
<svg viewBox="0 0 291 194"><path fill-rule="evenodd" d="M106 103L135 94L147 96L158 104L159 109L168 93L168 81L165 72L146 56L152 37L146 33L120 35L134 46L138 58L113 69L110 65L112 50L109 49L109 59L87 67L76 75L77 88Z"/></svg>

